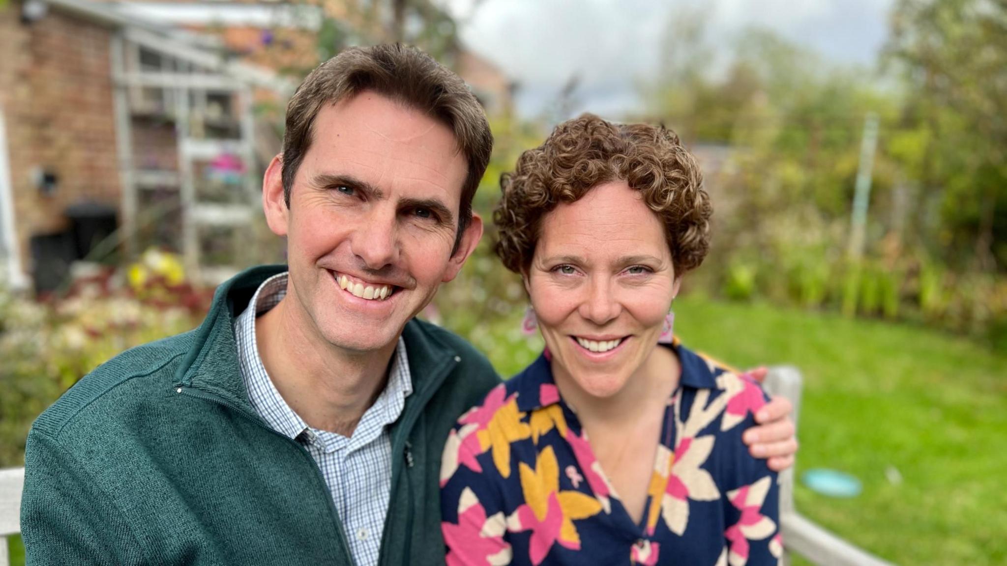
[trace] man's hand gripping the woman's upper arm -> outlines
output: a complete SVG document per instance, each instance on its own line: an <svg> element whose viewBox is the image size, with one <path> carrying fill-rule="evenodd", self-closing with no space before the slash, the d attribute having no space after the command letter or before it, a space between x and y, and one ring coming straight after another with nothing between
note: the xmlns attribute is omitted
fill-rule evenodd
<svg viewBox="0 0 1007 566"><path fill-rule="evenodd" d="M747 372L748 376L762 383L769 371L759 367ZM798 452L798 439L794 436L794 422L790 412L794 406L783 397L773 397L769 403L755 413L753 426L745 431L742 440L748 445L751 455L768 458L769 468L782 471L794 465L794 455Z"/></svg>

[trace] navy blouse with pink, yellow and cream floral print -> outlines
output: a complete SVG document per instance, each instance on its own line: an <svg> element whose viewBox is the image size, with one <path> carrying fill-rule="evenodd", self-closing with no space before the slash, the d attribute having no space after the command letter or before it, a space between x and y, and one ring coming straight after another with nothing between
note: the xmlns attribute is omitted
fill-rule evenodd
<svg viewBox="0 0 1007 566"><path fill-rule="evenodd" d="M441 469L447 566L776 564L776 474L741 441L766 397L744 377L671 347L682 377L639 524L542 356L451 431Z"/></svg>

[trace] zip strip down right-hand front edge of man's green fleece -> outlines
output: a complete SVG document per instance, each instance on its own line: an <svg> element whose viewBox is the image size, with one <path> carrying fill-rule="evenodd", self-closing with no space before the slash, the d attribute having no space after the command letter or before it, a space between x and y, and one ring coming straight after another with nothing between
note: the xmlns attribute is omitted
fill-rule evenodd
<svg viewBox="0 0 1007 566"><path fill-rule="evenodd" d="M423 390L416 391L413 393L413 395L417 396L416 401L408 407L408 411L403 411L403 414L399 417L401 421L400 424L396 426L395 434L392 438L391 492L393 497L389 499L389 515L391 515L392 507L395 505L394 496L398 491L399 483L402 481L402 475L403 473L405 473L406 480L409 481L408 483L409 489L407 489L407 499L408 499L407 504L409 513L407 514L406 518L407 521L406 541L404 543L404 546L406 548L406 553L403 555L403 560L405 562L403 562L402 564L389 563L389 560L391 560L391 558L389 558L389 553L386 551L386 549L388 549L389 545L390 525L392 522L386 520L385 532L382 533L382 539L381 539L382 552L380 553L378 559L378 563L380 565L408 566L409 561L412 558L411 556L409 556L409 549L412 547L412 540L413 540L413 525L412 525L413 515L414 515L413 500L415 499L416 494L414 493L413 490L412 479L409 476L409 468L413 467L413 454L412 454L413 446L409 442L409 435L413 431L413 425L416 424L416 420L419 419L420 415L422 415L423 411L426 409L427 403L430 402L430 399L440 388L441 384L444 383L444 380L447 378L447 375L451 373L451 370L455 366L457 366L458 362L460 362L460 360L457 357L452 356L450 353L446 355L444 357L444 362L430 372L426 383L424 383L423 385ZM403 464L405 464L405 468L403 467ZM422 490L423 487L421 486L420 489Z"/></svg>

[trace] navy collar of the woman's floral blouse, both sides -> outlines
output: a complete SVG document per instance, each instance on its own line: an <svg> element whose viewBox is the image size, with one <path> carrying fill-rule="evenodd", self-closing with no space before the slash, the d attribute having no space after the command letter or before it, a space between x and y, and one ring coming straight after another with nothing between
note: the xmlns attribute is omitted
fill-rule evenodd
<svg viewBox="0 0 1007 566"><path fill-rule="evenodd" d="M682 365L680 383L683 387L717 389L716 378L722 370L715 362L687 348L678 339L672 344L659 344L658 347L671 347L678 353L679 364ZM546 352L542 352L514 379L518 380L519 411L527 413L559 402L552 366Z"/></svg>

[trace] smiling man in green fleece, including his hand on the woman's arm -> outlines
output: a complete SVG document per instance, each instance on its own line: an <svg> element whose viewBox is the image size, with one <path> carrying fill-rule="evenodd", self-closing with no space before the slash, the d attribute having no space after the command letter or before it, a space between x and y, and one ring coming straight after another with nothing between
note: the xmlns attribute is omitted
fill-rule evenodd
<svg viewBox="0 0 1007 566"><path fill-rule="evenodd" d="M461 80L416 49L316 68L263 183L289 271L225 283L199 328L120 355L38 418L28 563L442 564L444 440L498 378L414 316L479 241L491 146ZM784 465L787 427L761 430Z"/></svg>

